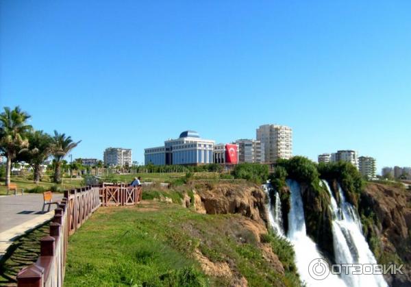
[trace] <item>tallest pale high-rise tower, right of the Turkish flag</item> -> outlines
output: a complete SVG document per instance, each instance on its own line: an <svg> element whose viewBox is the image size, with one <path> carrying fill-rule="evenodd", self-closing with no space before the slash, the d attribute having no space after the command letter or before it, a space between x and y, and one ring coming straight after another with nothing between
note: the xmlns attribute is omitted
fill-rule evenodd
<svg viewBox="0 0 411 287"><path fill-rule="evenodd" d="M264 144L264 162L292 157L292 129L285 125L260 125L257 140Z"/></svg>

